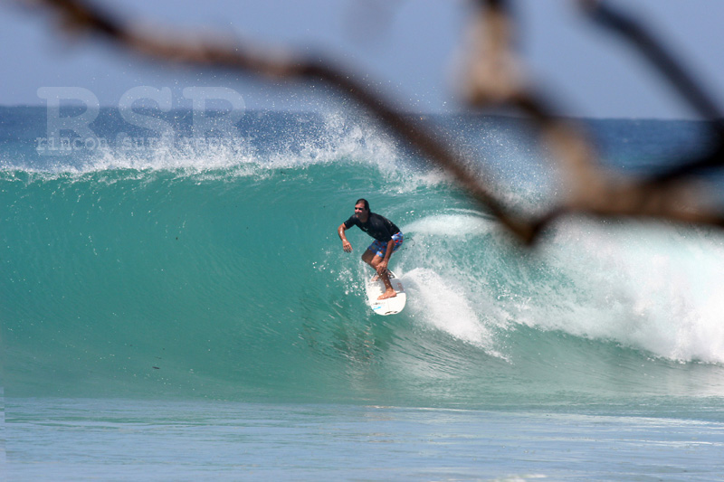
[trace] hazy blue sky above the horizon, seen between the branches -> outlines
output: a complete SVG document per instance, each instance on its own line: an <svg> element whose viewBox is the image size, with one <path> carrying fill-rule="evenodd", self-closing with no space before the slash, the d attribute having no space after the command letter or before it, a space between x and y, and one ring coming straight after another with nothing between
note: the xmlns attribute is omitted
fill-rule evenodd
<svg viewBox="0 0 724 482"><path fill-rule="evenodd" d="M405 109L456 109L454 65L469 13L462 0L103 0L129 20L232 35L322 53L354 65L357 76ZM519 52L529 82L556 100L559 113L595 118L696 118L618 38L591 24L571 0L513 2ZM724 105L720 0L616 1L654 27L668 47ZM271 88L236 74L160 67L97 39L58 35L52 18L0 6L3 88L0 104L43 105L42 87L80 87L117 105L139 86L173 91L224 86L247 109L315 109L323 90Z"/></svg>

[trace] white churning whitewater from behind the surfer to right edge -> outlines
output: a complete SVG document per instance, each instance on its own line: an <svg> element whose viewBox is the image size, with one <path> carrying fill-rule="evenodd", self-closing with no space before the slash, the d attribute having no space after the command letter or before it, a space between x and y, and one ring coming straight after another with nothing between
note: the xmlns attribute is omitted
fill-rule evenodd
<svg viewBox="0 0 724 482"><path fill-rule="evenodd" d="M724 363L720 232L572 221L521 255L474 212L429 215L403 232L405 279L423 300L416 314L467 343L492 351L491 333L524 324Z"/></svg>

